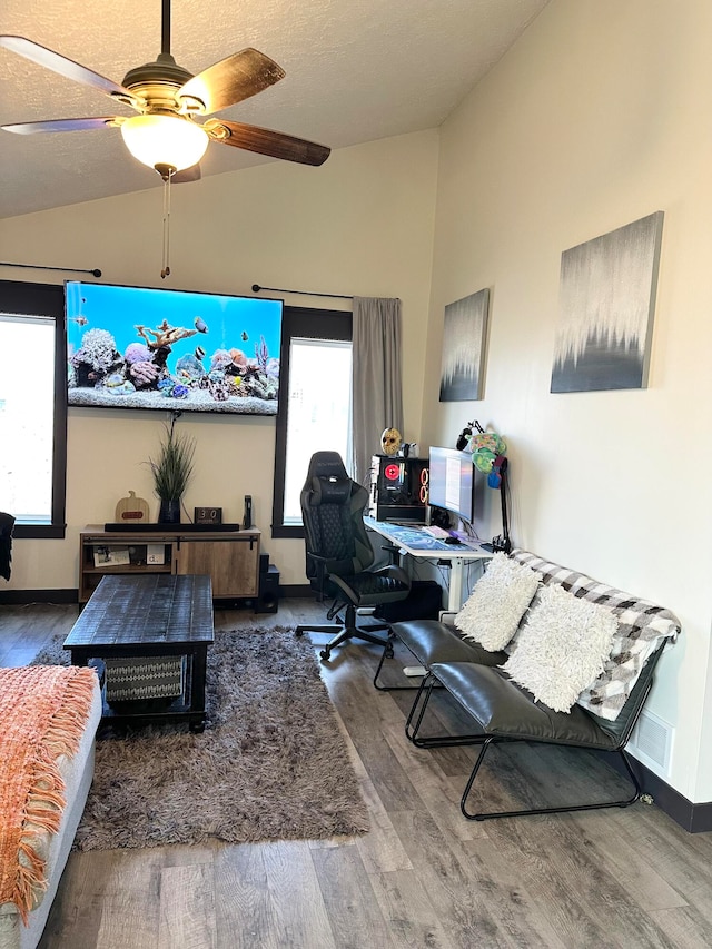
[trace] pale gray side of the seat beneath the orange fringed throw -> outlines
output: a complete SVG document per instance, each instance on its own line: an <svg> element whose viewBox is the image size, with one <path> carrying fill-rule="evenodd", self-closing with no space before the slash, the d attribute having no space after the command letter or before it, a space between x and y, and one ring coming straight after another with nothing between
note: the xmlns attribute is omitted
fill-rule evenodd
<svg viewBox="0 0 712 949"><path fill-rule="evenodd" d="M62 755L60 762L67 804L59 831L57 833L44 831L41 834L40 847L42 852L47 854L49 884L47 890L37 893L37 904L30 913L29 926L22 923L14 903L0 906L0 949L34 949L40 940L91 785L93 740L100 719L101 692L97 679L89 721L81 738L79 750L73 758Z"/></svg>

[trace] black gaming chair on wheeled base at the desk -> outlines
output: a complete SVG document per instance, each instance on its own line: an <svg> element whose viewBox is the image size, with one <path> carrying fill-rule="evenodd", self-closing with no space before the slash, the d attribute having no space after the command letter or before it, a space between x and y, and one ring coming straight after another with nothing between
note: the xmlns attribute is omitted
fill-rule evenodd
<svg viewBox="0 0 712 949"><path fill-rule="evenodd" d="M334 599L327 620L336 619L338 625L297 626L297 635L305 632L336 633L320 652L325 660L335 646L352 637L385 645L385 636L375 632L388 626L357 626L356 610L404 600L411 591L411 580L394 564L369 570L375 555L363 514L368 492L349 478L337 452L316 452L312 455L299 497L307 577L319 600L325 596Z"/></svg>

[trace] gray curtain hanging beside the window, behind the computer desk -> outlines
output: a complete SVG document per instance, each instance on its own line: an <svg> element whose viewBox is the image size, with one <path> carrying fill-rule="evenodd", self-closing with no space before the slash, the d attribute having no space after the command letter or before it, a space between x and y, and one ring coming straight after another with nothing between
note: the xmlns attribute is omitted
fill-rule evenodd
<svg viewBox="0 0 712 949"><path fill-rule="evenodd" d="M353 474L368 486L384 428L403 432L400 300L354 297Z"/></svg>

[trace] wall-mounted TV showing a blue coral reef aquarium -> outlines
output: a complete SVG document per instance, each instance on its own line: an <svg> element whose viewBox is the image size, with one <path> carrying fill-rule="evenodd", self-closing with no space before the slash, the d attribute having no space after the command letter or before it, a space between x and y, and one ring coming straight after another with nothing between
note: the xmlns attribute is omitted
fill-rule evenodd
<svg viewBox="0 0 712 949"><path fill-rule="evenodd" d="M68 280L69 405L276 415L283 301Z"/></svg>

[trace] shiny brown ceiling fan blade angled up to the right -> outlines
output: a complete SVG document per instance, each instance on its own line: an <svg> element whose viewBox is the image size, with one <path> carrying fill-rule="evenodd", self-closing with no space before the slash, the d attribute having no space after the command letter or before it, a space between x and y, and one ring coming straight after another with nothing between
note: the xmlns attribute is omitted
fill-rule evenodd
<svg viewBox="0 0 712 949"><path fill-rule="evenodd" d="M178 91L178 99L184 96L199 99L209 115L249 99L284 77L280 66L264 52L248 47L194 76Z"/></svg>

